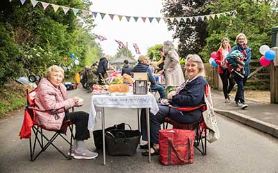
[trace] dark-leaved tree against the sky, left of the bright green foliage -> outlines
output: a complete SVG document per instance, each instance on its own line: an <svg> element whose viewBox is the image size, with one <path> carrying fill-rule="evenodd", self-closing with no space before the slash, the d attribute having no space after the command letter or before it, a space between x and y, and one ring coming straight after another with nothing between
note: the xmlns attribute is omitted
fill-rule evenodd
<svg viewBox="0 0 278 173"><path fill-rule="evenodd" d="M206 10L210 1L193 0L165 0L163 4L163 14L165 17L193 17L208 15ZM173 24L167 22L168 29L174 30L174 39L179 39L178 53L181 57L186 57L189 53L199 53L206 45L207 37L206 23L204 21L174 21Z"/></svg>

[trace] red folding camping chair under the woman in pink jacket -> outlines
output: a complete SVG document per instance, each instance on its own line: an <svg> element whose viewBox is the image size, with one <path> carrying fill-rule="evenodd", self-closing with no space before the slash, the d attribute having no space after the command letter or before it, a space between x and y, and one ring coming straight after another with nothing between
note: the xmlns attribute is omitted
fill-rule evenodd
<svg viewBox="0 0 278 173"><path fill-rule="evenodd" d="M42 152L44 152L50 145L52 145L54 148L57 149L60 154L65 156L67 160L70 160L71 158L71 151L72 151L72 140L74 139L74 135L72 133L72 122L70 120L67 120L65 123L63 123L62 127L58 131L53 131L54 135L51 138L48 138L45 134L44 131L49 131L48 129L44 129L44 127L40 127L36 122L35 122L35 111L39 111L35 109L35 94L37 93L37 89L34 89L33 91L28 91L26 90L26 99L27 99L27 105L24 111L24 121L22 124L22 129L19 132L20 138L28 138L29 139L29 146L30 146L30 156L31 156L31 161L35 161ZM73 111L73 109L72 109ZM51 112L51 111L50 111ZM65 116L67 116L67 111L65 111ZM66 134L67 127L70 127L70 141L63 136L63 134ZM31 139L31 133L33 131L34 134L34 141L32 143ZM70 155L67 156L64 152L62 152L56 145L54 145L54 140L60 136L63 138L69 145L70 145ZM44 140L47 141L46 144L44 144ZM39 145L37 154L35 154L36 150L36 145ZM33 146L32 146L33 145ZM37 150L38 150L37 149Z"/></svg>

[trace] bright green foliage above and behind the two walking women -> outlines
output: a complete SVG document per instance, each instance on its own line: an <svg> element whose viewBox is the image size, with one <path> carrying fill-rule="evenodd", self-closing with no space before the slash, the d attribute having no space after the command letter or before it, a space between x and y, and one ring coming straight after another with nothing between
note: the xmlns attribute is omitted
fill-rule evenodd
<svg viewBox="0 0 278 173"><path fill-rule="evenodd" d="M230 39L231 46L238 33L245 33L248 46L252 48L252 59L259 59L259 47L263 44L271 46L271 28L277 25L277 12L272 8L275 1L231 1L220 0L207 7L212 13L236 10L234 17L220 17L207 21L208 37L201 55L207 61L212 51L217 51L222 37Z"/></svg>

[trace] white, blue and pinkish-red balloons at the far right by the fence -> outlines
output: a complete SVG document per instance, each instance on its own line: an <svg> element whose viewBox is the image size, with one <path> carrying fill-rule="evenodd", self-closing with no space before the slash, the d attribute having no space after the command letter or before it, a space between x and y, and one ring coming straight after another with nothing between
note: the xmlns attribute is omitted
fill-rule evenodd
<svg viewBox="0 0 278 173"><path fill-rule="evenodd" d="M263 45L259 48L259 52L263 55L260 58L260 63L262 66L268 66L272 60L275 59L276 53L275 51L270 50L268 45Z"/></svg>

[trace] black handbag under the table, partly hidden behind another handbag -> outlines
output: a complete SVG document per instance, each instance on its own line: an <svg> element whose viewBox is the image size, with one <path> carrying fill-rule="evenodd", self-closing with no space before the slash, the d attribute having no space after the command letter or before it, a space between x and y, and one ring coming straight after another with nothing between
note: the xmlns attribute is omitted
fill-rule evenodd
<svg viewBox="0 0 278 173"><path fill-rule="evenodd" d="M108 127L104 131L106 133L106 131L111 131L112 129L124 129L125 125L129 126L129 128L131 129L130 125L125 124L124 122L122 122L119 125L113 125L112 127ZM103 149L102 129L92 131L92 134L94 135L94 141L95 141L96 148L97 149Z"/></svg>

